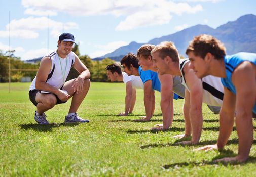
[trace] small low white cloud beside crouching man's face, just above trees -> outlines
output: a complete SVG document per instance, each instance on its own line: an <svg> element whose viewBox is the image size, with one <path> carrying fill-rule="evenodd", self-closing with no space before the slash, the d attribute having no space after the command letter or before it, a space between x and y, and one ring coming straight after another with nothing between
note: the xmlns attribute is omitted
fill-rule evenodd
<svg viewBox="0 0 256 177"><path fill-rule="evenodd" d="M41 48L41 49L30 50L30 51L25 52L21 56L21 58L22 58L22 60L29 60L29 59L33 59L33 58L43 57L52 51L56 51L56 49L48 50L47 48Z"/></svg>

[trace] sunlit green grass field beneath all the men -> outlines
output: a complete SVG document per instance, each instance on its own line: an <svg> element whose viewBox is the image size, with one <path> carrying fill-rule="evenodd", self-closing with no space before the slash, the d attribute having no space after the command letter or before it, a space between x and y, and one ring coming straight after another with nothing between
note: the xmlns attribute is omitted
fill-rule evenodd
<svg viewBox="0 0 256 177"><path fill-rule="evenodd" d="M236 131L223 152L195 152L215 143L218 115L203 106L200 144L177 146L171 138L184 132L182 100L174 101L174 120L167 131L151 131L162 122L160 94L150 122L133 122L144 115L143 91L131 116L124 111L123 83L91 83L78 114L87 124L64 124L70 101L47 111L50 125L38 125L35 106L29 101L30 83L0 84L0 176L256 176L256 143L243 164L214 164L212 160L235 156ZM256 122L253 121L255 127Z"/></svg>

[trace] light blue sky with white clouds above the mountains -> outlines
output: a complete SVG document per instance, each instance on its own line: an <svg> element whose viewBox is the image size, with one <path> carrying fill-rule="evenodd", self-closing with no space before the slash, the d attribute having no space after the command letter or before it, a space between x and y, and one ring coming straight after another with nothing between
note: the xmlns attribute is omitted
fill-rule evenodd
<svg viewBox="0 0 256 177"><path fill-rule="evenodd" d="M69 32L80 54L95 58L197 24L217 28L256 15L255 7L256 0L0 0L0 50L21 60L46 56Z"/></svg>

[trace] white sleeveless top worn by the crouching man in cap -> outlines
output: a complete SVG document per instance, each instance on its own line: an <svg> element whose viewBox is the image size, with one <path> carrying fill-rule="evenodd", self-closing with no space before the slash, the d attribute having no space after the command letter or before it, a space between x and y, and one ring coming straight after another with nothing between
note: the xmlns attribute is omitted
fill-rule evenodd
<svg viewBox="0 0 256 177"><path fill-rule="evenodd" d="M52 52L50 55L48 55L48 57L50 57L50 59L52 61L52 66L51 66L51 70L48 74L46 83L48 83L49 85L51 85L55 88L60 89L63 86L63 74L64 74L64 82L65 82L66 78L69 74L69 71L75 62L75 55L71 51L66 56L66 58L63 59L63 58L60 58L56 52ZM62 74L62 72L63 72L63 74ZM36 80L36 77L34 77L32 83L29 87L29 91L35 89L35 80Z"/></svg>

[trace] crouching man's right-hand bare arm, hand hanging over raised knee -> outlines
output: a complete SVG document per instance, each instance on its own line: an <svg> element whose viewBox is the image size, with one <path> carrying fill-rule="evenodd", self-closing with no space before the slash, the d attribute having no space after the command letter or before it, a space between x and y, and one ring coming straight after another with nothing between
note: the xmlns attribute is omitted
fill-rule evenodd
<svg viewBox="0 0 256 177"><path fill-rule="evenodd" d="M79 94L83 89L84 80L89 79L91 74L87 67L84 65L84 63L81 62L81 60L78 58L78 56L75 53L74 55L75 62L73 67L78 71L80 75L74 80L72 87L74 87L74 92L77 92Z"/></svg>

